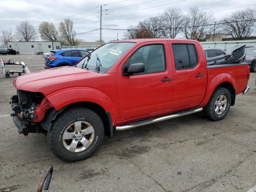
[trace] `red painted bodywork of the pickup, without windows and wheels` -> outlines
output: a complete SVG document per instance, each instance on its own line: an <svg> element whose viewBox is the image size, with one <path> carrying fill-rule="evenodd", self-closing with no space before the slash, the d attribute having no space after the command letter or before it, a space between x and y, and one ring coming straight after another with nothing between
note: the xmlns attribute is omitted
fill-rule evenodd
<svg viewBox="0 0 256 192"><path fill-rule="evenodd" d="M120 41L121 42L121 41ZM222 82L230 82L240 94L247 86L249 66L230 66L208 69L201 44L195 40L144 39L136 42L106 74L64 66L41 70L16 78L14 86L20 90L42 92L45 96L37 106L40 122L46 110L60 110L75 102L94 102L110 112L113 126L144 118L168 114L195 106L205 106L214 89ZM198 64L191 69L176 70L172 43L194 44ZM123 76L122 66L141 46L164 44L166 71L152 74ZM202 77L196 77L203 74ZM162 82L161 79L172 78Z"/></svg>

